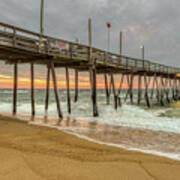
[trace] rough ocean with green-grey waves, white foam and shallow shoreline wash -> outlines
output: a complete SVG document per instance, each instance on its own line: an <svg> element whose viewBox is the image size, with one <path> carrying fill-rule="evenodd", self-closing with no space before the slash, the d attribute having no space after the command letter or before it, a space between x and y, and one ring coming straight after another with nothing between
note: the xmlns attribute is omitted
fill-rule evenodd
<svg viewBox="0 0 180 180"><path fill-rule="evenodd" d="M180 107L160 106L153 99L152 108L147 108L142 101L137 106L137 91L134 90L134 105L127 101L122 107L114 109L113 96L110 105L106 105L105 92L97 90L99 117L92 116L91 92L80 89L79 101L74 103L74 90L71 93L72 114L67 112L66 90L58 91L61 109L64 115L62 122L57 117L54 91L50 90L48 116L45 117L45 90L35 90L36 118L29 121L33 124L58 128L81 138L122 147L145 153L157 154L180 160ZM121 98L125 97L125 90ZM12 89L0 89L1 114L11 115ZM18 90L17 116L30 120L30 90Z"/></svg>

